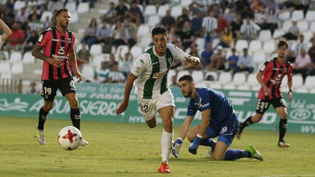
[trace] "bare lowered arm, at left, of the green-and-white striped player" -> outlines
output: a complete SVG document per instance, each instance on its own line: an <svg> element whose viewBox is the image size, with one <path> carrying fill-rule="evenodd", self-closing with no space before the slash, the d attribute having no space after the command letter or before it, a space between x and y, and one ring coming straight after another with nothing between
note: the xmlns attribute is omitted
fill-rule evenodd
<svg viewBox="0 0 315 177"><path fill-rule="evenodd" d="M132 73L129 74L129 76L127 78L126 85L124 87L123 99L120 102L119 107L116 110L116 114L120 114L120 113L124 112L125 110L127 110L130 92L131 92L132 87L134 85L134 82L137 78L138 77L133 75Z"/></svg>

